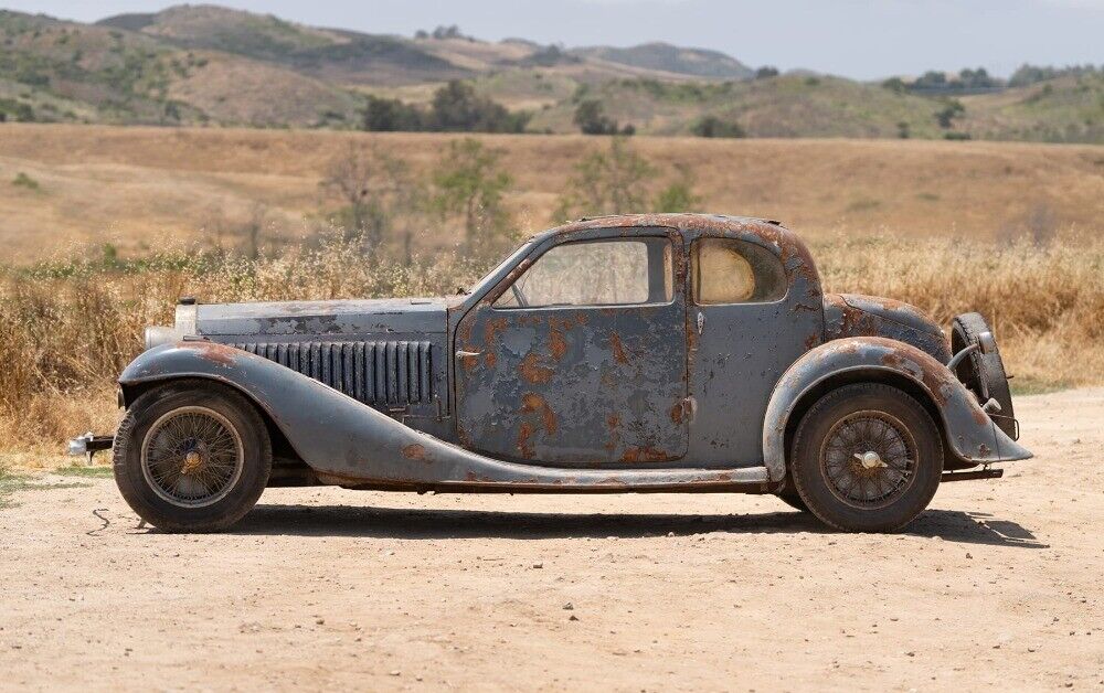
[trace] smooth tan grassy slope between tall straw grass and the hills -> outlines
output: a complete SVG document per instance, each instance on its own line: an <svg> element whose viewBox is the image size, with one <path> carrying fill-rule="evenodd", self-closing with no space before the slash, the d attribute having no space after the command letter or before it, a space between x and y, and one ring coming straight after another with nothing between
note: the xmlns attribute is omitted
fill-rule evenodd
<svg viewBox="0 0 1104 693"><path fill-rule="evenodd" d="M349 148L376 147L427 173L455 137L4 125L0 264L68 257L105 242L125 254L167 241L210 244L213 227L247 216L257 202L272 236L295 238L331 202L319 181ZM546 227L573 164L607 146L583 136L479 138L505 152L519 233ZM657 185L677 164L688 167L703 210L778 218L807 237L992 239L1040 209L1057 227L1104 232L1098 146L641 137L633 147L658 166ZM38 186L11 184L19 173ZM438 249L455 241L427 228L420 243Z"/></svg>

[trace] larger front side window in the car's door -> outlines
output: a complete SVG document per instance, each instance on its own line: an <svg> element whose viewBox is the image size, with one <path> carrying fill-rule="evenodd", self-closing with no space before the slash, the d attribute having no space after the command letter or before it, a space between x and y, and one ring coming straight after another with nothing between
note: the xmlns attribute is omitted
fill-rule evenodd
<svg viewBox="0 0 1104 693"><path fill-rule="evenodd" d="M521 275L496 308L667 303L675 297L668 238L565 243Z"/></svg>

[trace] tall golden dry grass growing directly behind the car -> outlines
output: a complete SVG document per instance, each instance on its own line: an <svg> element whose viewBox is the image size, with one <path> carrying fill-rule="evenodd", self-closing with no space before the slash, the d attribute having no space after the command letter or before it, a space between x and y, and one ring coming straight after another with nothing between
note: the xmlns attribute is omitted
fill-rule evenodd
<svg viewBox="0 0 1104 693"><path fill-rule="evenodd" d="M826 290L888 296L946 324L994 323L1022 391L1104 382L1104 243L1038 247L837 235L814 244ZM0 275L0 449L57 446L118 415L114 379L168 324L181 295L204 301L442 295L481 274L446 254L404 267L332 242L261 260L167 254L139 266L44 266Z"/></svg>

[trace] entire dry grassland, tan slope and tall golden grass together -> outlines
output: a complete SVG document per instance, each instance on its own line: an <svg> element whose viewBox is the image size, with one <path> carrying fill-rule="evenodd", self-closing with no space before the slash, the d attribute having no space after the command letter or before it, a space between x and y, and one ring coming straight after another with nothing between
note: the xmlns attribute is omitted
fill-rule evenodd
<svg viewBox="0 0 1104 693"><path fill-rule="evenodd" d="M514 177L519 233L549 224L578 157L603 138L495 136ZM443 294L488 258L447 227L402 267L337 245L300 246L328 203L319 180L350 147L428 172L439 135L0 127L0 450L56 449L114 427L113 380L183 294L208 301ZM660 171L686 164L702 207L785 220L811 243L826 287L902 299L944 324L979 310L1019 392L1104 384L1104 148L988 142L638 138ZM666 173L659 173L662 177ZM52 258L210 247L258 202L288 244L258 260L139 273ZM217 228L215 228L217 227ZM1032 232L1034 235L1032 236ZM229 247L238 239L223 238ZM318 236L314 236L317 244ZM3 265L8 265L7 270Z"/></svg>

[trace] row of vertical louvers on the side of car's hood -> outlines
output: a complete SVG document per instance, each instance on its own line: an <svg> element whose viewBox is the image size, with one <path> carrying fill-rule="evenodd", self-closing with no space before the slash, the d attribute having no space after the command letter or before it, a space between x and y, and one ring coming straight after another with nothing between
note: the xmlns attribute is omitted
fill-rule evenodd
<svg viewBox="0 0 1104 693"><path fill-rule="evenodd" d="M246 342L233 346L375 407L427 404L435 394L427 341Z"/></svg>

